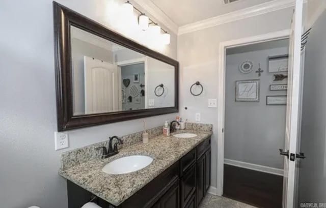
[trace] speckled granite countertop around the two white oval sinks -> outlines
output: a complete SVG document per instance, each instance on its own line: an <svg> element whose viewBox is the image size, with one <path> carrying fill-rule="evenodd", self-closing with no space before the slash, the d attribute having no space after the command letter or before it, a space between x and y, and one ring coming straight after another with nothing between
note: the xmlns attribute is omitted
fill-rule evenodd
<svg viewBox="0 0 326 208"><path fill-rule="evenodd" d="M208 138L211 131L179 130L176 133L195 133L193 138L158 135L149 140L122 148L118 155L107 159L92 159L72 167L61 168L59 174L113 205L119 205L139 191L156 176ZM108 162L129 155L146 155L153 162L147 167L127 174L107 174L101 169Z"/></svg>

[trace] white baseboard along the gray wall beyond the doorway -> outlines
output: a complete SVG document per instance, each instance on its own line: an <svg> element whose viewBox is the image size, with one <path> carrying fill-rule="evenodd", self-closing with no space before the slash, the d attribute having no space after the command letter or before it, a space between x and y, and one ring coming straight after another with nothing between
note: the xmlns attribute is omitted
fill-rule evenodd
<svg viewBox="0 0 326 208"><path fill-rule="evenodd" d="M263 165L256 165L256 164L252 164L252 163L246 163L246 162L230 160L230 159L224 159L224 164L283 176L283 169L279 169L279 168L268 167L268 166L263 166Z"/></svg>

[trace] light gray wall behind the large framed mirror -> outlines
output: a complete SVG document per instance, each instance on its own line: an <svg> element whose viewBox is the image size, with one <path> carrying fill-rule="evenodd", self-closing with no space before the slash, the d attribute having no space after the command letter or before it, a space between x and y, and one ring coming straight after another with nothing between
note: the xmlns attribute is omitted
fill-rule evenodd
<svg viewBox="0 0 326 208"><path fill-rule="evenodd" d="M60 3L107 25L110 0ZM117 2L117 1L116 1ZM0 202L4 208L66 208L66 180L55 151L55 66L52 0L2 0L0 6ZM111 25L107 25L111 26ZM176 58L176 35L162 52ZM148 128L176 114L149 117ZM69 131L70 149L143 128L132 120ZM66 150L64 150L66 151Z"/></svg>

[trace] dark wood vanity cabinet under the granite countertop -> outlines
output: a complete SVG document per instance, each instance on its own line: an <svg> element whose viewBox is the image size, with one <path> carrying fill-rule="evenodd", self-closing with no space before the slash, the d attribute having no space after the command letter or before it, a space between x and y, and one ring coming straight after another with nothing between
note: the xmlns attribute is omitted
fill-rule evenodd
<svg viewBox="0 0 326 208"><path fill-rule="evenodd" d="M154 180L113 206L103 199L96 202L103 208L198 208L210 186L211 149L207 138ZM80 208L94 195L67 181L68 207Z"/></svg>

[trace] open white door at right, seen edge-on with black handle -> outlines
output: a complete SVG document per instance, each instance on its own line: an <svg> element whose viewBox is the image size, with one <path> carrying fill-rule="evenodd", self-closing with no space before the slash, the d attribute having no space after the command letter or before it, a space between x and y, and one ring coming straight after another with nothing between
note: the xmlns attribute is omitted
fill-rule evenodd
<svg viewBox="0 0 326 208"><path fill-rule="evenodd" d="M297 142L300 136L301 113L301 35L303 22L303 0L296 0L292 17L289 67L288 67L288 92L286 109L286 128L284 151L288 151L289 157L284 157L284 181L283 181L283 208L294 207L295 182L296 182L296 152Z"/></svg>

